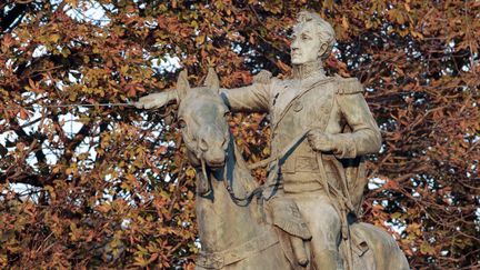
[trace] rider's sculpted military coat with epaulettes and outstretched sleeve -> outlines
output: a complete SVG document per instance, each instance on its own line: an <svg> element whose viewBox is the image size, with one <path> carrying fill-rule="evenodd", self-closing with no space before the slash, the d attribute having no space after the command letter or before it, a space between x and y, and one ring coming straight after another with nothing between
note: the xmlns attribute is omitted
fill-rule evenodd
<svg viewBox="0 0 480 270"><path fill-rule="evenodd" d="M283 157L281 172L293 178L296 184L290 186L298 192L313 187L311 182L302 184L302 179L327 176L320 180L346 192L358 209L367 183L361 157L378 152L381 146L379 128L362 93L363 87L354 78L312 73L304 79L263 78L248 87L224 89L221 94L232 111L269 113L273 156L306 130L317 128L332 134L340 147L320 154L324 167L320 177L319 153L306 140Z"/></svg>

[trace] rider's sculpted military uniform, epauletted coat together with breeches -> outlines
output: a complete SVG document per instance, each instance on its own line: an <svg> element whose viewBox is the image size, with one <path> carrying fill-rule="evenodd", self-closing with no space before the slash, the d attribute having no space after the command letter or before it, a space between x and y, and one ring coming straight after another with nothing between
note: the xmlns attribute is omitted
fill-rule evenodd
<svg viewBox="0 0 480 270"><path fill-rule="evenodd" d="M338 252L341 204L358 206L364 188L364 180L349 176L346 163L378 152L381 137L360 82L326 77L320 63L312 64L296 70L292 80L263 78L248 87L226 89L222 96L232 111L269 113L272 156L308 130L332 134L337 149L330 153L313 151L307 140L299 140L280 160L277 179L281 193L297 202L313 237L313 253L321 257ZM339 201L340 196L348 201Z"/></svg>

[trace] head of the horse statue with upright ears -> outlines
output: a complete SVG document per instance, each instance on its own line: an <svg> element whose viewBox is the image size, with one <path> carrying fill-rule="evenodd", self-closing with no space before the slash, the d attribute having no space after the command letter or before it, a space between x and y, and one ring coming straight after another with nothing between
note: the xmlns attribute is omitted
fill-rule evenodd
<svg viewBox="0 0 480 270"><path fill-rule="evenodd" d="M203 87L190 88L186 70L180 72L177 81L179 126L190 162L197 167L204 162L213 170L224 166L230 142L229 126L224 118L229 109L219 90L218 76L211 68Z"/></svg>

